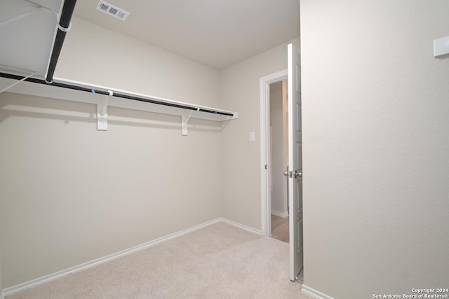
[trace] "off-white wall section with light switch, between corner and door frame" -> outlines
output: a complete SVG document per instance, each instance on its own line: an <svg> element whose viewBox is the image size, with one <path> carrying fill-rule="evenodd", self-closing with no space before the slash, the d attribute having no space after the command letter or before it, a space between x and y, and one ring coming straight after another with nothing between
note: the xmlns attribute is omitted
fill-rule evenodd
<svg viewBox="0 0 449 299"><path fill-rule="evenodd" d="M293 41L299 44L299 38ZM239 119L228 123L221 141L222 214L260 230L260 86L259 79L287 68L287 44L220 71L222 107ZM249 133L256 140L249 141Z"/></svg>

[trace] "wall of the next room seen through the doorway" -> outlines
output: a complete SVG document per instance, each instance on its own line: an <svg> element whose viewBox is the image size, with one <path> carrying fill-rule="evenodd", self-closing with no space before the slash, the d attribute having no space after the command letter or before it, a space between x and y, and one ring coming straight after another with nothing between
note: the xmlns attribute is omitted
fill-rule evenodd
<svg viewBox="0 0 449 299"><path fill-rule="evenodd" d="M272 212L285 213L283 191L287 188L285 176L285 162L283 157L283 99L282 81L269 85L269 121L271 127L271 155L272 155Z"/></svg>

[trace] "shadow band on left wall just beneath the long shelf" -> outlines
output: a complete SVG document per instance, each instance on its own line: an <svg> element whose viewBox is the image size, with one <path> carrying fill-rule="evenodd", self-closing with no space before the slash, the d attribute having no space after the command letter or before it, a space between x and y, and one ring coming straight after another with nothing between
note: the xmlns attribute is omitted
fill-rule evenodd
<svg viewBox="0 0 449 299"><path fill-rule="evenodd" d="M30 95L18 95L4 92L0 95L0 123L20 116L25 118L44 118L70 122L97 123L96 104L69 102L61 99L49 99ZM108 107L109 125L128 125L132 127L151 127L181 130L180 116L162 113ZM228 121L216 122L191 118L189 130L196 132L221 132Z"/></svg>

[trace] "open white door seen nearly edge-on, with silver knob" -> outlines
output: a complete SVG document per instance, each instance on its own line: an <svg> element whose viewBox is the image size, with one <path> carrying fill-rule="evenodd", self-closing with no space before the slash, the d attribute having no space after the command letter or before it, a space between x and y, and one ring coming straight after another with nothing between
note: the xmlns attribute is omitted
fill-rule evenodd
<svg viewBox="0 0 449 299"><path fill-rule="evenodd" d="M303 265L302 247L302 125L300 53L288 45L288 205L290 220L290 280Z"/></svg>

